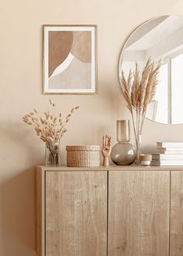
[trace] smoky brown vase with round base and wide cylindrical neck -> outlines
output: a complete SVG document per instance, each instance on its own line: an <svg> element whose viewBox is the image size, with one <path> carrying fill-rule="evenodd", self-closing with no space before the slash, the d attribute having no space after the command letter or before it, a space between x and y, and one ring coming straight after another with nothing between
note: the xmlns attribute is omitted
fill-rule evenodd
<svg viewBox="0 0 183 256"><path fill-rule="evenodd" d="M136 150L130 140L129 120L116 121L116 137L118 143L112 147L112 162L118 165L132 164L136 158Z"/></svg>

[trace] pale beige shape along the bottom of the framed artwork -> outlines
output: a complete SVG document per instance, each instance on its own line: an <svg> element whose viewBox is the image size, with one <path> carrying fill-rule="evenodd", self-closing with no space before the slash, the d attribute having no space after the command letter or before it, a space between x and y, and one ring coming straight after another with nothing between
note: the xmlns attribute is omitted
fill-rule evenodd
<svg viewBox="0 0 183 256"><path fill-rule="evenodd" d="M90 89L91 63L74 58L69 67L49 79L50 89Z"/></svg>

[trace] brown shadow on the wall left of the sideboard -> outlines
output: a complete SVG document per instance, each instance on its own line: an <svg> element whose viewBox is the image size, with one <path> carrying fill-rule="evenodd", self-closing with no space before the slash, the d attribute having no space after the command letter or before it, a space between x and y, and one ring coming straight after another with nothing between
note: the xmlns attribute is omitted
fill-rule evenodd
<svg viewBox="0 0 183 256"><path fill-rule="evenodd" d="M3 256L35 256L35 167L0 185Z"/></svg>

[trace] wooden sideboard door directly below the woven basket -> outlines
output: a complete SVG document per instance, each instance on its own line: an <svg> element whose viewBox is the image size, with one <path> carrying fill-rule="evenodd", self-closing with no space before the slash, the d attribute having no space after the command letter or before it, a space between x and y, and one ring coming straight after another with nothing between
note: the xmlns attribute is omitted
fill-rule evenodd
<svg viewBox="0 0 183 256"><path fill-rule="evenodd" d="M106 256L106 171L47 171L45 200L47 256Z"/></svg>

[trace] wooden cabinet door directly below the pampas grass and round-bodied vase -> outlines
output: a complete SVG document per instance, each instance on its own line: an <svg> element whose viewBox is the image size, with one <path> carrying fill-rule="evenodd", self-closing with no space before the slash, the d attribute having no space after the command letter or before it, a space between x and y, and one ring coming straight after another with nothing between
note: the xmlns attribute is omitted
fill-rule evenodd
<svg viewBox="0 0 183 256"><path fill-rule="evenodd" d="M109 172L109 256L169 255L170 171Z"/></svg>

